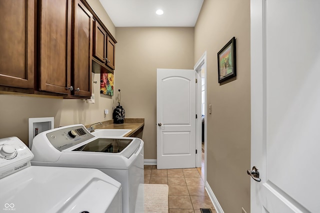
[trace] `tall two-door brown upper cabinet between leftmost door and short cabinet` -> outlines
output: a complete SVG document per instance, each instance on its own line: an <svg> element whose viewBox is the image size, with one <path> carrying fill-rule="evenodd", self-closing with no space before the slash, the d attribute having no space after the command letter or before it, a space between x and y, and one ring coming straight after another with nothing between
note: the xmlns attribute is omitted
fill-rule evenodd
<svg viewBox="0 0 320 213"><path fill-rule="evenodd" d="M39 90L88 97L93 16L80 0L72 1L40 1Z"/></svg>

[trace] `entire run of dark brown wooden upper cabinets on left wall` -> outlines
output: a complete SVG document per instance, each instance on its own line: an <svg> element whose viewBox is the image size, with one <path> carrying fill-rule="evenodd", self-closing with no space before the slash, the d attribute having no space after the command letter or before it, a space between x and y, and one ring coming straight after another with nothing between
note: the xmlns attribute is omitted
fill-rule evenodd
<svg viewBox="0 0 320 213"><path fill-rule="evenodd" d="M92 54L114 69L116 41L85 0L0 0L0 14L2 93L86 98Z"/></svg>

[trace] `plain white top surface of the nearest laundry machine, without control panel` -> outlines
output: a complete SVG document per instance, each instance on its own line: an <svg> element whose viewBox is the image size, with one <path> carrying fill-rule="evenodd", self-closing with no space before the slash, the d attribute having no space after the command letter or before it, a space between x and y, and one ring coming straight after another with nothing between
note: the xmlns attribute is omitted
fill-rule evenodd
<svg viewBox="0 0 320 213"><path fill-rule="evenodd" d="M0 179L1 208L16 212L105 212L121 184L92 168L30 166Z"/></svg>

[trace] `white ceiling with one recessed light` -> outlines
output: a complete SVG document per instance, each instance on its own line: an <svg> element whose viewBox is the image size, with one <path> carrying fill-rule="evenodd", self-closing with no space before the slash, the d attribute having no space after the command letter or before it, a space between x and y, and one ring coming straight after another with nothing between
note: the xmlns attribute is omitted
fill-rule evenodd
<svg viewBox="0 0 320 213"><path fill-rule="evenodd" d="M203 0L100 0L114 26L194 26ZM155 11L162 9L163 14Z"/></svg>

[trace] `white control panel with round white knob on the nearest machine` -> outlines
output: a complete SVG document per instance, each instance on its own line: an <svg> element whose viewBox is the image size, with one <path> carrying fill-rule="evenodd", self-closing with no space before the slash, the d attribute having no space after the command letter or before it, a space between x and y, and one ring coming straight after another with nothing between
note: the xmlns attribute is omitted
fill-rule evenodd
<svg viewBox="0 0 320 213"><path fill-rule="evenodd" d="M30 166L33 154L17 137L0 139L0 179Z"/></svg>

